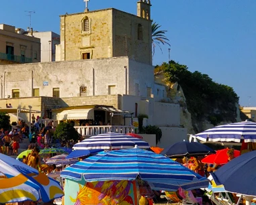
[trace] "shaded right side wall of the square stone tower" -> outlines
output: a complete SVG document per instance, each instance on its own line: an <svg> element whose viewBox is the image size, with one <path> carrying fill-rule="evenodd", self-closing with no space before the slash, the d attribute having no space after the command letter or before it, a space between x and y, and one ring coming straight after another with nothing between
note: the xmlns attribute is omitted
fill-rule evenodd
<svg viewBox="0 0 256 205"><path fill-rule="evenodd" d="M116 9L113 11L113 56L129 56L138 62L152 64L151 21ZM138 40L139 24L142 25L142 40Z"/></svg>

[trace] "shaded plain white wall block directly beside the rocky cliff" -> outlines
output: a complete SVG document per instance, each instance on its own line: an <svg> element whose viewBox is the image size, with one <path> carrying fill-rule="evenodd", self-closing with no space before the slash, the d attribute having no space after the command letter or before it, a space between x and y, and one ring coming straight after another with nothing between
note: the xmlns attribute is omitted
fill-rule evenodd
<svg viewBox="0 0 256 205"><path fill-rule="evenodd" d="M178 104L163 102L154 103L154 125L157 126L179 126L180 113Z"/></svg>

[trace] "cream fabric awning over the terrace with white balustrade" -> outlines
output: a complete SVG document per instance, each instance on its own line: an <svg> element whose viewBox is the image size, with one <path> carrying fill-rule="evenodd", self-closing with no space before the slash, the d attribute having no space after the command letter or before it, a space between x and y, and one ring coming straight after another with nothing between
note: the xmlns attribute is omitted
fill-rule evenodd
<svg viewBox="0 0 256 205"><path fill-rule="evenodd" d="M56 115L58 121L94 119L93 109L71 109L64 110Z"/></svg>

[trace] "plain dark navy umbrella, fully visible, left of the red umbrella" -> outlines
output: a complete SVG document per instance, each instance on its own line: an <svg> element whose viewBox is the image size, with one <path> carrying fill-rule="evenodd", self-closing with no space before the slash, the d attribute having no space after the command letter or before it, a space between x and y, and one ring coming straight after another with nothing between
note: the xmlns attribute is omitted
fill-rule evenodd
<svg viewBox="0 0 256 205"><path fill-rule="evenodd" d="M216 153L216 151L204 144L188 141L174 143L161 151L161 155L167 157L204 156L210 153Z"/></svg>

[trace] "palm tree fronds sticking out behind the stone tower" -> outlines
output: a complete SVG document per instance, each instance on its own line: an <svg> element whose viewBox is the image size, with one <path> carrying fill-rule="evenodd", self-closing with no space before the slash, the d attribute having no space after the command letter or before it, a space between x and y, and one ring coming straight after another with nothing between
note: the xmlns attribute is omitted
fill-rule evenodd
<svg viewBox="0 0 256 205"><path fill-rule="evenodd" d="M153 56L155 54L155 47L159 46L161 52L163 53L163 50L161 48L161 44L165 45L168 44L169 46L171 46L168 42L169 39L165 36L165 30L159 30L159 28L161 27L161 25L159 25L158 23L154 22L152 25L152 45L153 45Z"/></svg>

